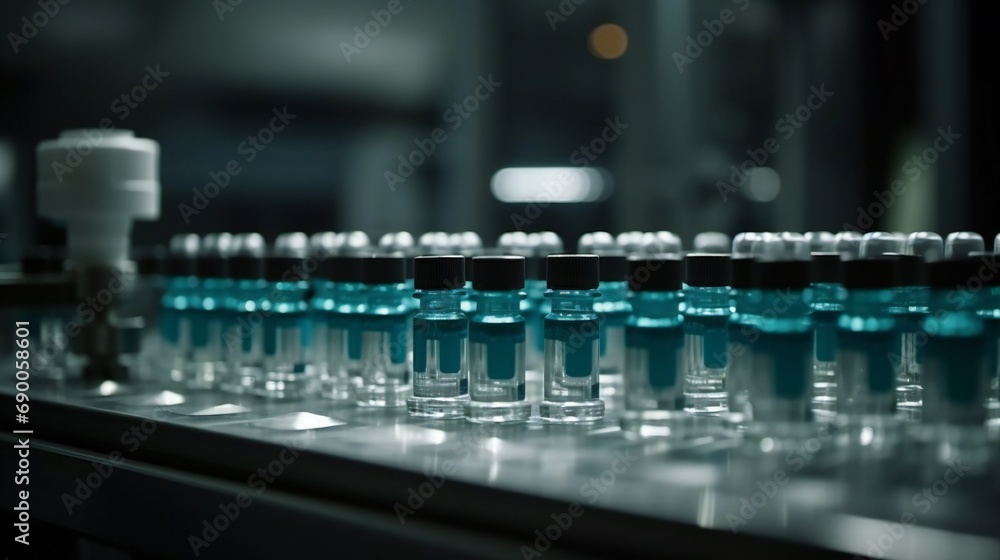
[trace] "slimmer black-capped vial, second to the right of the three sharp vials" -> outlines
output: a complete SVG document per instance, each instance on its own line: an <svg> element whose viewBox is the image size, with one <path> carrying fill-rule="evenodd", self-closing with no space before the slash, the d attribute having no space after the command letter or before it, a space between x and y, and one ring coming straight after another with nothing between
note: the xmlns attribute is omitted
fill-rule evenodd
<svg viewBox="0 0 1000 560"><path fill-rule="evenodd" d="M686 409L717 415L728 410L730 258L721 253L690 253L684 260Z"/></svg>

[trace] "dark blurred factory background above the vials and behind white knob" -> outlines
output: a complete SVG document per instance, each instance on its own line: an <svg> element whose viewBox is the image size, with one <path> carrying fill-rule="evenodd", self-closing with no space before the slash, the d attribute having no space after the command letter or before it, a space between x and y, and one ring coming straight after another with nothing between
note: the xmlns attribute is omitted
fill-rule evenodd
<svg viewBox="0 0 1000 560"><path fill-rule="evenodd" d="M523 229L573 249L594 230L689 244L705 230L845 224L989 239L998 12L971 0L6 1L0 260L63 241L34 217L35 147L102 120L161 145L162 218L136 224L137 245L349 229L490 243ZM272 118L283 110L287 124ZM737 184L753 157L766 169ZM238 174L212 196L230 161Z"/></svg>

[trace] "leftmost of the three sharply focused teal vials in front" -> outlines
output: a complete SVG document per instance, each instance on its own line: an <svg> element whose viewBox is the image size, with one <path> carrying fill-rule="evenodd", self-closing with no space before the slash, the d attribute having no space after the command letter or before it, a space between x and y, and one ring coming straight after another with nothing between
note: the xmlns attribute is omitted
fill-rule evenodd
<svg viewBox="0 0 1000 560"><path fill-rule="evenodd" d="M413 281L420 310L413 318L413 396L407 409L414 416L463 418L469 402L465 257L417 257Z"/></svg>

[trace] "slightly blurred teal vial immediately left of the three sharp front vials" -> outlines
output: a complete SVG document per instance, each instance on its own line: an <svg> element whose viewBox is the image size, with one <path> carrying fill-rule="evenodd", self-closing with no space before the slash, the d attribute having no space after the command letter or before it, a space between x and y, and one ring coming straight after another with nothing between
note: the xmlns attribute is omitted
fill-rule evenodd
<svg viewBox="0 0 1000 560"><path fill-rule="evenodd" d="M360 315L360 406L402 407L410 396L409 319L412 298L404 291L406 259L361 260L365 307Z"/></svg>

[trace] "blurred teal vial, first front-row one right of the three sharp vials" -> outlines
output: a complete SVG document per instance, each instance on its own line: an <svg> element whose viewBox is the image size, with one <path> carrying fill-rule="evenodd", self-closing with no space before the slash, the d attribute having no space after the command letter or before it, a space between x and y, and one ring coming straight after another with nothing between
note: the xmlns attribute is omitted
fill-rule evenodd
<svg viewBox="0 0 1000 560"><path fill-rule="evenodd" d="M625 326L622 427L641 435L679 435L684 412L684 262L670 255L628 262L632 315Z"/></svg>

